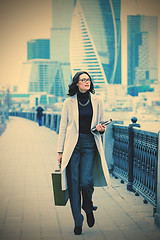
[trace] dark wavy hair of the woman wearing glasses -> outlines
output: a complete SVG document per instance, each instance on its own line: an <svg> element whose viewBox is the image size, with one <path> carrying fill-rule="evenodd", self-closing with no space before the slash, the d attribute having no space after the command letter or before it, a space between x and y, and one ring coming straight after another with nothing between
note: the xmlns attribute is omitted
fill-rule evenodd
<svg viewBox="0 0 160 240"><path fill-rule="evenodd" d="M91 76L89 75L89 73L87 73L87 72L85 72L85 71L80 71L80 72L77 72L75 75L74 75L74 77L73 77L73 79L72 79L72 83L69 85L69 90L68 90L68 96L74 96L78 91L79 91L79 89L78 89L78 86L77 86L77 83L78 83L78 81L79 81L79 77L80 77L80 75L82 75L83 73L85 73L85 74L87 74L88 75L88 77L90 78L90 80L91 80L91 86L90 86L90 89L88 90L89 92L91 92L91 93L95 93L95 90L94 90L94 85L93 85L93 82L92 82L92 78L91 78Z"/></svg>

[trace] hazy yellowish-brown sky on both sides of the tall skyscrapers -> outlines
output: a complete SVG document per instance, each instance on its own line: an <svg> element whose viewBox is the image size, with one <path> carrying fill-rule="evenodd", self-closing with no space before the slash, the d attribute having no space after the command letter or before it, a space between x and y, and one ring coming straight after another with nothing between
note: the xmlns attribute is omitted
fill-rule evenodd
<svg viewBox="0 0 160 240"><path fill-rule="evenodd" d="M122 83L126 83L126 76L127 76L127 66L126 66L126 13L128 14L148 14L148 15L158 15L158 1L152 1L152 6L150 7L149 1L145 1L146 4L143 6L142 0L137 1L138 3L135 3L136 1L129 1L129 3L126 0L122 0L122 52L123 52L123 58L122 58ZM155 3L155 5L153 4ZM4 8L4 14L2 14L1 19L4 20L5 12L8 11L8 17L5 19L5 24L3 24L3 30L4 34L1 39L2 44L2 51L1 51L1 81L0 85L4 86L6 84L8 85L16 85L19 83L20 79L20 71L22 67L22 63L26 61L27 59L27 41L30 39L37 39L37 38L50 38L50 28L51 28L51 17L52 17L52 8L51 8L51 1L47 0L45 1L33 1L32 9L34 10L31 14L31 17L25 18L25 16L28 16L28 13L31 13L30 7L31 3L28 2L24 6L24 2L21 1L21 4L18 0L14 1L15 5L13 8L10 5L10 8L7 8L5 6L5 3L3 3ZM38 8L36 7L36 3L38 4ZM15 8L17 7L17 12L15 11ZM129 6L128 6L129 5ZM28 6L27 8L25 8ZM43 6L43 11L41 7ZM45 8L44 8L45 6ZM124 7L125 6L125 7ZM2 9L3 9L2 8ZM22 13L20 14L20 11L22 12L22 9L24 8L24 14L25 16L22 16ZM19 9L19 11L18 11ZM37 12L36 12L36 9ZM143 9L143 11L142 11ZM10 14L12 13L12 14ZM17 13L17 15L16 15ZM16 21L14 17L16 16ZM43 21L40 21L40 17L43 19ZM12 24L11 18L13 18ZM27 24L26 24L26 22ZM33 21L34 19L34 21ZM21 24L18 22L20 22ZM39 21L39 22L38 22ZM46 23L44 23L46 21ZM43 24L42 24L43 22ZM2 22L1 22L2 23ZM39 23L39 24L38 24ZM17 24L17 25L16 25ZM21 25L23 25L23 31L21 30ZM26 28L26 25L28 28ZM36 27L35 27L36 25ZM159 24L160 25L160 24ZM48 26L48 27L46 27ZM8 28L7 28L8 27ZM10 28L9 28L10 27ZM12 27L12 29L11 29ZM38 28L41 28L41 31L38 30ZM12 31L11 31L12 30ZM14 30L14 31L13 31ZM14 34L13 34L14 32ZM12 33L12 34L11 34ZM23 40L22 40L23 39ZM21 40L21 42L19 42ZM23 42L23 47L22 47ZM11 44L12 43L12 44ZM16 45L18 44L19 47ZM25 52L25 53L24 53Z"/></svg>

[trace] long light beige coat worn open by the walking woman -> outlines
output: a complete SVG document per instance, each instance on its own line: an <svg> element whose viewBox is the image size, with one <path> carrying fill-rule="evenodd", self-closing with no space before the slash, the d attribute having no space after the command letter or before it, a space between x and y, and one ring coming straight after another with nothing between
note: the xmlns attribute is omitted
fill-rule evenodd
<svg viewBox="0 0 160 240"><path fill-rule="evenodd" d="M99 122L103 121L103 104L99 97L91 93L91 103L93 107L93 117L91 128L95 127ZM57 152L63 152L62 157L62 189L67 188L66 181L66 166L71 158L73 150L77 144L79 136L79 111L77 94L72 97L67 98L64 101L60 130L58 137L58 147ZM105 160L104 150L102 146L101 134L94 133L95 142L97 145L97 154L94 160L93 167L93 182L94 186L106 186L110 185L110 177L108 166ZM87 159L86 159L87 161Z"/></svg>

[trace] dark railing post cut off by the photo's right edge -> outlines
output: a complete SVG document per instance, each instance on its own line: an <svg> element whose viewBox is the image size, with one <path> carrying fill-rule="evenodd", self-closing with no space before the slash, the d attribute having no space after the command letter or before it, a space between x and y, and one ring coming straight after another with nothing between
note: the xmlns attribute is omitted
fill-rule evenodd
<svg viewBox="0 0 160 240"><path fill-rule="evenodd" d="M160 228L160 131L158 132L158 166L157 166L157 209L154 222Z"/></svg>

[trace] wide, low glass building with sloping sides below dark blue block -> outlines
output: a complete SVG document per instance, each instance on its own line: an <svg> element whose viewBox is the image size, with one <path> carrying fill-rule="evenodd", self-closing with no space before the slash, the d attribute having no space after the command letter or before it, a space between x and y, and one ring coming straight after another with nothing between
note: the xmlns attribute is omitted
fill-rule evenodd
<svg viewBox="0 0 160 240"><path fill-rule="evenodd" d="M59 63L47 59L26 61L22 65L18 92L45 92L53 94L56 97L61 97L64 93L62 79Z"/></svg>

